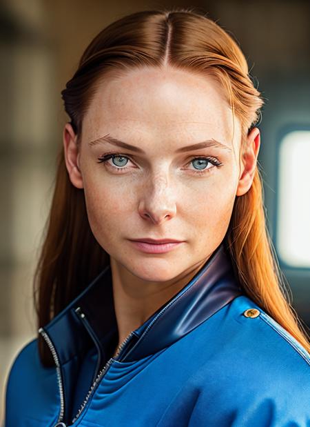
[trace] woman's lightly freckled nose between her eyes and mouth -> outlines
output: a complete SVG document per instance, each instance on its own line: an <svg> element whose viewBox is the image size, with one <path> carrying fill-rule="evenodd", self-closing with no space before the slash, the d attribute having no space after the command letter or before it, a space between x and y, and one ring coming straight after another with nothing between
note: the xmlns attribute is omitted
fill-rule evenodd
<svg viewBox="0 0 310 427"><path fill-rule="evenodd" d="M143 196L138 203L139 215L154 224L162 224L176 215L175 197L176 190L169 186L167 176L158 173L143 188Z"/></svg>

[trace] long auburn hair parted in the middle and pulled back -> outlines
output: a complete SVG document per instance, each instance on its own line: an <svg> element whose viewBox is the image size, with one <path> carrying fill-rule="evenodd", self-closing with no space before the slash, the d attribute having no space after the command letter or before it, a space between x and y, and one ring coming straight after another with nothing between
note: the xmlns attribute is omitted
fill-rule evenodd
<svg viewBox="0 0 310 427"><path fill-rule="evenodd" d="M264 100L238 42L197 8L135 12L114 21L91 41L61 92L78 143L83 117L99 83L127 70L167 66L217 79L233 117L240 121L242 154L249 130L260 121ZM269 237L257 167L251 188L235 199L225 243L245 293L310 352L309 337L291 306L289 286ZM38 327L48 324L109 262L110 256L90 230L83 189L69 179L62 146L34 272ZM41 361L48 366L50 352L38 339Z"/></svg>

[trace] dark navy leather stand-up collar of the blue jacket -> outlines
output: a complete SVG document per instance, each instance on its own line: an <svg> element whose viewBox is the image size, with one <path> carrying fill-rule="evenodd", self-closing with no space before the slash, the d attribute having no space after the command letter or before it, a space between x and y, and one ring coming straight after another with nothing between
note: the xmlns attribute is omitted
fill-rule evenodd
<svg viewBox="0 0 310 427"><path fill-rule="evenodd" d="M222 243L186 286L131 332L117 359L141 359L170 346L243 293ZM105 363L118 343L110 265L43 330L60 365L94 346L99 364Z"/></svg>

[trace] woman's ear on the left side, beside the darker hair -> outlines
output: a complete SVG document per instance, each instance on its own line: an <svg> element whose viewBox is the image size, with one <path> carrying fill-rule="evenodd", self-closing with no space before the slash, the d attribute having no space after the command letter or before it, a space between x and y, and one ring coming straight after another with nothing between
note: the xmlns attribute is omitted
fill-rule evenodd
<svg viewBox="0 0 310 427"><path fill-rule="evenodd" d="M83 177L79 166L79 146L76 143L77 136L70 123L63 128L63 149L65 166L68 170L70 181L76 188L83 188Z"/></svg>

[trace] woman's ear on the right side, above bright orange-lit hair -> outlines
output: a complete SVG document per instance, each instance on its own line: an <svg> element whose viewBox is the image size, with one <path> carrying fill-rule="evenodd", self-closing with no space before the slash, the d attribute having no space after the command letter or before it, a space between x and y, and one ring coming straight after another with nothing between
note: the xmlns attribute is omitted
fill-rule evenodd
<svg viewBox="0 0 310 427"><path fill-rule="evenodd" d="M251 188L256 171L257 157L260 150L260 130L253 128L247 135L247 148L242 154L242 168L236 196L245 195Z"/></svg>

